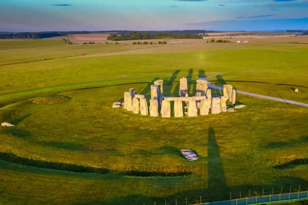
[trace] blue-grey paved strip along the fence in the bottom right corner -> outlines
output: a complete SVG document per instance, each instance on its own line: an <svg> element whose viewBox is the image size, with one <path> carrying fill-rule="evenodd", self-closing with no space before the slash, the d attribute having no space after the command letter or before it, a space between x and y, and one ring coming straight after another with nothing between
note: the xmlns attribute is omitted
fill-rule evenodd
<svg viewBox="0 0 308 205"><path fill-rule="evenodd" d="M220 201L206 203L210 205L246 205L246 204L257 204L257 203L273 203L285 200L303 200L308 199L308 192L292 193L292 194L281 194L273 196L259 196L254 198L244 198L238 200ZM205 204L205 203L203 203Z"/></svg>

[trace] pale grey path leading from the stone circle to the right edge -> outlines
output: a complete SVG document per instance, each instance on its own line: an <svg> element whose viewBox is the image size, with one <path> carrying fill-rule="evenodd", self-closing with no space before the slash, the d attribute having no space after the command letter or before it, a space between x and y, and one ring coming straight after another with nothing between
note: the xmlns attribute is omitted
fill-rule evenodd
<svg viewBox="0 0 308 205"><path fill-rule="evenodd" d="M228 72L226 72L226 73L228 73ZM218 75L215 75L215 76L220 76L220 75L223 75L223 74L225 74L225 73L218 74ZM215 77L215 76L210 76L208 78ZM204 78L204 79L207 80L208 78ZM220 86L217 86L217 85L213 85L210 82L208 82L208 86L211 87L211 88L214 88L214 89L223 90L223 87L220 87ZM300 103L300 102L296 102L296 101L292 101L292 100L285 100L285 99L282 99L282 98L274 98L274 97L270 97L270 96L263 96L263 95L254 94L254 93L248 93L248 92L244 92L244 91L240 91L240 90L237 90L237 93L238 94L242 94L242 95L246 95L246 96L253 96L253 97L257 97L257 98L263 98L263 99L268 99L268 100L275 100L275 101L279 101L279 102L283 102L283 103L288 103L288 104L300 105L300 106L308 107L308 104Z"/></svg>

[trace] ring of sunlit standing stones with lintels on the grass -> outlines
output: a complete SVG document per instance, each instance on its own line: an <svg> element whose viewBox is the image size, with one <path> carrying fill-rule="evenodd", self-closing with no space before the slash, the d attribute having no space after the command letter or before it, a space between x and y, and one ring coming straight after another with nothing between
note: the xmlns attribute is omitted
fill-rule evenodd
<svg viewBox="0 0 308 205"><path fill-rule="evenodd" d="M237 91L233 89L232 85L223 86L223 96L212 96L211 90L208 89L207 80L198 79L196 81L196 94L194 96L188 95L187 79L180 79L179 97L165 97L163 96L163 80L157 80L150 86L151 99L149 106L147 98L144 95L137 94L134 88L130 88L129 92L124 93L124 102L114 102L113 107L124 106L127 111L132 111L135 114L143 116L171 117L171 103L174 104L174 117L181 118L184 115L188 117L205 116L209 114L219 114L226 111L234 111L234 108L228 108L226 102L232 104L236 102ZM242 108L245 105L235 106L235 108ZM183 113L183 107L187 109Z"/></svg>

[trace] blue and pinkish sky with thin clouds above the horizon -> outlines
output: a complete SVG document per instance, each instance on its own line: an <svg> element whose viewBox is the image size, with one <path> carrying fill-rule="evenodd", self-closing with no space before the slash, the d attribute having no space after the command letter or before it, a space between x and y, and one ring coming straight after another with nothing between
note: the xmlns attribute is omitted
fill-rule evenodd
<svg viewBox="0 0 308 205"><path fill-rule="evenodd" d="M0 0L0 31L308 30L308 0Z"/></svg>

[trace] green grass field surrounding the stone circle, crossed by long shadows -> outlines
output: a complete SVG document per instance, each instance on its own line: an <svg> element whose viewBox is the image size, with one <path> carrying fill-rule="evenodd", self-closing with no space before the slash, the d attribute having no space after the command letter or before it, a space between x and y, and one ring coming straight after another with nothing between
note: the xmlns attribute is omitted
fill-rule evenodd
<svg viewBox="0 0 308 205"><path fill-rule="evenodd" d="M149 97L157 79L177 96L187 77L192 95L198 77L225 72L209 80L308 103L308 45L62 43L0 41L0 122L16 125L0 127L0 204L185 204L307 190L306 107L238 95L247 107L234 113L162 119L111 105L131 87Z"/></svg>

